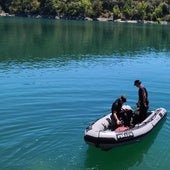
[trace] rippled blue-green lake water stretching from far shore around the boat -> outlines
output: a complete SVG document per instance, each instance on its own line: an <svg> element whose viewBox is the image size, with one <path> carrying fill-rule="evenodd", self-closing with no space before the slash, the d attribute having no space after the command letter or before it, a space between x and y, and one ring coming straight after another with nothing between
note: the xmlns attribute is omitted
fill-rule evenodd
<svg viewBox="0 0 170 170"><path fill-rule="evenodd" d="M170 169L170 27L0 18L0 169ZM85 128L135 79L167 119L143 141L105 152Z"/></svg>

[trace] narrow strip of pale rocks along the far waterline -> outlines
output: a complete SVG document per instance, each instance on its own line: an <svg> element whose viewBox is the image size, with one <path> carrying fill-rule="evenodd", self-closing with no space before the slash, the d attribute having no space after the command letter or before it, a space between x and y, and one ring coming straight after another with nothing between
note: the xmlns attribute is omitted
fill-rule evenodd
<svg viewBox="0 0 170 170"><path fill-rule="evenodd" d="M65 17L65 16L43 16L43 15L15 15L15 14L9 14L2 12L0 13L0 17L28 17L28 18L48 18L48 19L56 19L56 20L85 20L85 21L100 21L100 22L117 22L117 23L132 23L132 24L162 24L162 25L167 25L170 24L168 21L146 21L146 20L126 20L126 19L117 19L113 20L112 17L110 18L105 18L105 17L99 17L99 18L89 18L89 17Z"/></svg>

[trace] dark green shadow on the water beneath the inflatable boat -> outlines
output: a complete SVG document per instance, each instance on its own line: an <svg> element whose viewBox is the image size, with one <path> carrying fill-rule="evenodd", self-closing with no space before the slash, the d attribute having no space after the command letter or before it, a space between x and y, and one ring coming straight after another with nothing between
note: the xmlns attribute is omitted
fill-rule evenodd
<svg viewBox="0 0 170 170"><path fill-rule="evenodd" d="M102 151L98 148L89 146L86 154L85 167L90 170L111 170L129 169L140 165L150 147L154 143L164 119L155 129L148 134L141 142L113 148L109 151Z"/></svg>

